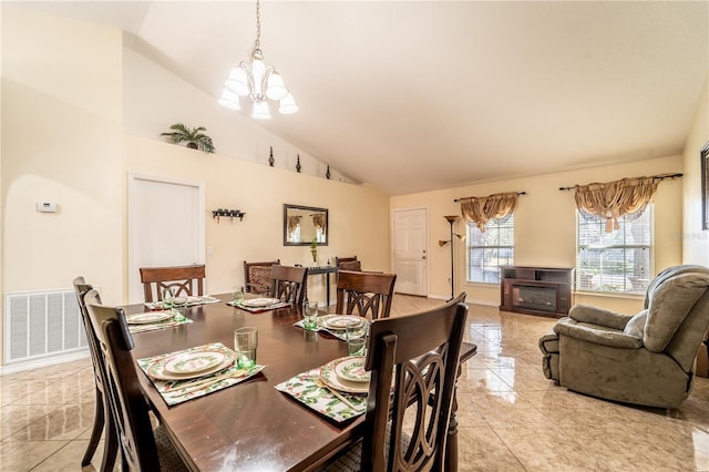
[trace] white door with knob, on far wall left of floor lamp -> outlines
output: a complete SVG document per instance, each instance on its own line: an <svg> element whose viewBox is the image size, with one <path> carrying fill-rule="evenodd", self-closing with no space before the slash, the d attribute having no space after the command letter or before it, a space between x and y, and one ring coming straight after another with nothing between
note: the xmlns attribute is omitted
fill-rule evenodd
<svg viewBox="0 0 709 472"><path fill-rule="evenodd" d="M425 296L429 290L428 209L395 209L392 220L395 291Z"/></svg>

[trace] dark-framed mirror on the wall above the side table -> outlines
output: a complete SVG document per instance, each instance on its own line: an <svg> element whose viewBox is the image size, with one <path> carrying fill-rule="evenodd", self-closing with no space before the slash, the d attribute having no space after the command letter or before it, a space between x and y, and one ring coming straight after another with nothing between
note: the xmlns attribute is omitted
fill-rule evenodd
<svg viewBox="0 0 709 472"><path fill-rule="evenodd" d="M285 204L284 246L327 246L329 219L327 208Z"/></svg>

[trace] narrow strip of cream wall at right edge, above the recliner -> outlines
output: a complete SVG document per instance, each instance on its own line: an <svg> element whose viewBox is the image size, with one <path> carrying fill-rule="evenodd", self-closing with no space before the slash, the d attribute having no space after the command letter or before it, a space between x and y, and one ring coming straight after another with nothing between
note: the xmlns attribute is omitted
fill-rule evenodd
<svg viewBox="0 0 709 472"><path fill-rule="evenodd" d="M701 229L701 167L699 152L709 143L709 76L685 144L682 247L685 264L709 266L709 230Z"/></svg>

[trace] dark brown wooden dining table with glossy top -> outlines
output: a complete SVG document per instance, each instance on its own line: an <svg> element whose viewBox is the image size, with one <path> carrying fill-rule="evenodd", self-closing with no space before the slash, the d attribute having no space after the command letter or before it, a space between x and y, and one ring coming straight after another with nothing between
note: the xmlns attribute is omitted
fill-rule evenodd
<svg viewBox="0 0 709 472"><path fill-rule="evenodd" d="M187 308L191 324L133 335L133 358L140 359L213 342L234 348L235 329L258 329L257 362L266 368L251 379L184 403L168 407L152 380L137 369L145 397L189 469L312 470L362 438L363 414L337 423L274 388L347 356L346 342L294 326L301 319L299 308L249 312L227 305L230 296L216 298L220 301ZM143 305L123 308L126 315L145 311ZM474 353L475 346L464 343L462 361ZM455 428L454 418L451 423ZM455 434L452 429L449 437L449 460L454 468Z"/></svg>

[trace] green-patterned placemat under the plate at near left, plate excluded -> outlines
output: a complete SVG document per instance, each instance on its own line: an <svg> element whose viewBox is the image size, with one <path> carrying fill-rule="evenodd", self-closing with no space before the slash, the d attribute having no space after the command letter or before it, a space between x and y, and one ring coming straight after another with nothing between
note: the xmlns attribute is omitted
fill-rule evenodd
<svg viewBox="0 0 709 472"><path fill-rule="evenodd" d="M167 357L175 356L182 352L193 352L197 350L219 350L225 353L230 353L234 359L236 359L236 352L232 349L225 347L220 342L215 342L212 345L198 346L195 348L184 349L182 351L168 352L160 356L146 357L143 359L137 359L136 362L141 369L147 376L148 369L151 366L160 360L163 360ZM240 377L226 377L228 373L234 373L240 370L236 362L229 365L229 367L224 368L217 372L214 372L209 376L204 376L199 378L185 379L185 380L157 380L153 379L148 376L157 391L160 392L165 403L168 406L178 404L187 400L192 400L193 398L204 397L205 394L209 394L212 392L225 389L227 387L235 386L237 383L243 382L246 379L249 379L256 376L258 372L264 370L266 366L254 366L248 370L248 372ZM208 379L214 380L207 381ZM202 381L205 381L204 383ZM199 383L197 383L199 382ZM201 387L201 388L198 388Z"/></svg>

